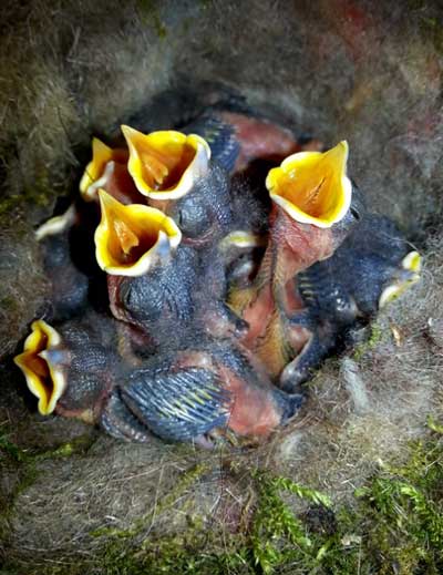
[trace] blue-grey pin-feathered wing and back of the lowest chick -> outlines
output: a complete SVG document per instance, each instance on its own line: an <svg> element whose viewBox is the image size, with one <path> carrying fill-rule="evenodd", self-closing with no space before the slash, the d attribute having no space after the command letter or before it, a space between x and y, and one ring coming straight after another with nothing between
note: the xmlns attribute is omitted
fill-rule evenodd
<svg viewBox="0 0 443 575"><path fill-rule="evenodd" d="M200 364L179 364L186 358L192 361L194 353ZM110 434L133 441L147 441L154 434L167 441L188 442L227 428L233 397L220 379L222 368L251 391L266 388L266 401L280 412L281 423L303 402L301 396L271 387L235 346L203 338L192 345L189 340L189 349L163 351L130 371L113 390L101 424Z"/></svg>

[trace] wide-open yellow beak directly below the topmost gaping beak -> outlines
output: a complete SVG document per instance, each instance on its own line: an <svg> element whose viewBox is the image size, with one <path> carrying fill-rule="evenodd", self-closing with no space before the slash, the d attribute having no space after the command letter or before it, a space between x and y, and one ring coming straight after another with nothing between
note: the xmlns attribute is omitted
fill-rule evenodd
<svg viewBox="0 0 443 575"><path fill-rule="evenodd" d="M114 276L142 276L182 240L175 222L142 204L125 206L100 189L102 219L95 230L99 266Z"/></svg>

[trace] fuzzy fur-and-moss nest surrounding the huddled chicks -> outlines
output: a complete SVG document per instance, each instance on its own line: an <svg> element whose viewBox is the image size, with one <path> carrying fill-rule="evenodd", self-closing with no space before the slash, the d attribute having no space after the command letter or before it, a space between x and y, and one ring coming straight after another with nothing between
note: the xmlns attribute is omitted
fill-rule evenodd
<svg viewBox="0 0 443 575"><path fill-rule="evenodd" d="M8 572L442 568L437 4L40 0L0 9ZM93 135L113 137L146 102L146 131L169 129L220 86L327 147L347 138L349 173L371 212L395 220L423 254L421 281L364 342L323 364L302 415L254 449L126 444L42 418L11 361L49 300L34 230L78 193Z"/></svg>

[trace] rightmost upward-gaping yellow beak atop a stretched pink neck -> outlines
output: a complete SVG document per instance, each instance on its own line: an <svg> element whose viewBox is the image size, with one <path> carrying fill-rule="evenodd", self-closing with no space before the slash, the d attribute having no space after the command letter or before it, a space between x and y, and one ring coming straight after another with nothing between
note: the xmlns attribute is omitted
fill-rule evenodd
<svg viewBox="0 0 443 575"><path fill-rule="evenodd" d="M328 228L346 216L351 204L347 161L344 140L324 153L299 152L269 171L266 187L292 219Z"/></svg>

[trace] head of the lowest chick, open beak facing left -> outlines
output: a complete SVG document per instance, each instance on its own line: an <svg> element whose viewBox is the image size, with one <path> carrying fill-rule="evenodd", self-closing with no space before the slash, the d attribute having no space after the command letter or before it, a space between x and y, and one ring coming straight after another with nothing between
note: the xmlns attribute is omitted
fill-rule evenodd
<svg viewBox="0 0 443 575"><path fill-rule="evenodd" d="M37 320L14 362L38 398L41 414L55 412L96 422L122 371L115 352L115 321L89 314L53 328Z"/></svg>

